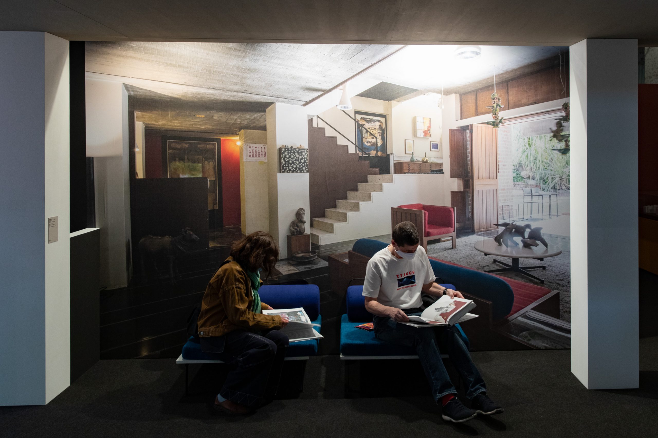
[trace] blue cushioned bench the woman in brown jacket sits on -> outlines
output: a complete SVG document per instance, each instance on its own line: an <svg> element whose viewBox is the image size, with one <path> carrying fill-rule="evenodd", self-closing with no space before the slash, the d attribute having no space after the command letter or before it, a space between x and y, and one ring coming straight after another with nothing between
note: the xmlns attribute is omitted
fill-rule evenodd
<svg viewBox="0 0 658 438"><path fill-rule="evenodd" d="M294 309L303 307L304 311L318 324L315 330L320 332L320 289L315 284L284 284L261 286L259 294L263 303L274 309ZM291 342L286 351L286 361L305 361L318 352L318 339ZM201 350L199 342L191 337L183 345L183 351L176 359L176 364L185 365L185 391L188 391L188 366L190 364L224 363L217 355Z"/></svg>

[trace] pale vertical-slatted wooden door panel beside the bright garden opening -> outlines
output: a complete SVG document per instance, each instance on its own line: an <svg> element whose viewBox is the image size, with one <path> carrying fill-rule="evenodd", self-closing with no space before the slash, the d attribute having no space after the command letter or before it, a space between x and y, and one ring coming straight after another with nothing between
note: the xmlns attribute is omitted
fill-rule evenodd
<svg viewBox="0 0 658 438"><path fill-rule="evenodd" d="M473 125L473 219L476 231L498 221L498 136L494 127Z"/></svg>

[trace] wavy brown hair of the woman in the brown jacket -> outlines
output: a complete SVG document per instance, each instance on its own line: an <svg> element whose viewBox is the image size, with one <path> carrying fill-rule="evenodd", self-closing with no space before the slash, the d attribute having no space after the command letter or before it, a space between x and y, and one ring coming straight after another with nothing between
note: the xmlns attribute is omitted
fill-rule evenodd
<svg viewBox="0 0 658 438"><path fill-rule="evenodd" d="M236 241L231 247L231 257L247 271L255 273L263 268L269 275L279 258L279 248L268 232L257 231Z"/></svg>

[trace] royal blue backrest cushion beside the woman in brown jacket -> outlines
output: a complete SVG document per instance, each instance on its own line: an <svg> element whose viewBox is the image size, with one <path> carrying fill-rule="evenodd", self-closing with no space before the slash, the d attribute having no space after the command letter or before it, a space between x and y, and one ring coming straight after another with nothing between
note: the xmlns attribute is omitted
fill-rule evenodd
<svg viewBox="0 0 658 438"><path fill-rule="evenodd" d="M320 288L316 284L263 285L258 293L261 301L274 309L303 307L311 320L320 316Z"/></svg>

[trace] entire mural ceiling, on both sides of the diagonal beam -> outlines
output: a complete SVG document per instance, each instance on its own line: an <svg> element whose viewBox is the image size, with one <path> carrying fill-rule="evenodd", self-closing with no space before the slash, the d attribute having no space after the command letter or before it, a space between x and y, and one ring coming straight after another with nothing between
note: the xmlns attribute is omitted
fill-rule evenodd
<svg viewBox="0 0 658 438"><path fill-rule="evenodd" d="M401 50L399 50L401 49ZM237 134L265 129L274 102L301 105L363 73L361 96L405 100L490 85L557 62L564 47L484 46L456 60L449 45L87 42L90 78L120 81L149 129ZM397 52L396 52L397 51ZM395 52L395 53L394 53ZM494 67L495 66L495 67ZM534 69L534 70L533 70ZM201 117L203 116L203 117Z"/></svg>

